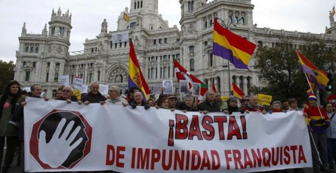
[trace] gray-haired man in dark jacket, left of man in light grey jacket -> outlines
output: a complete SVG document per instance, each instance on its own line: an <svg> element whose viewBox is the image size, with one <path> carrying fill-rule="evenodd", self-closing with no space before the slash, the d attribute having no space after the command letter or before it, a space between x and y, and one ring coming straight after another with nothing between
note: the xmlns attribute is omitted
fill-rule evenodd
<svg viewBox="0 0 336 173"><path fill-rule="evenodd" d="M98 82L92 82L90 83L90 92L88 95L83 97L81 101L88 105L90 103L100 103L103 105L105 103L106 98L99 92L99 83Z"/></svg>

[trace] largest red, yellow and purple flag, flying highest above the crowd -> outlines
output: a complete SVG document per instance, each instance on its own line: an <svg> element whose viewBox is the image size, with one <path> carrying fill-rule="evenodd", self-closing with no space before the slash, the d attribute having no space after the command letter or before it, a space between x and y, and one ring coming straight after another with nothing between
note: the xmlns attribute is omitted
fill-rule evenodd
<svg viewBox="0 0 336 173"><path fill-rule="evenodd" d="M256 45L222 27L215 18L212 49L213 55L229 60L237 69L248 70Z"/></svg>

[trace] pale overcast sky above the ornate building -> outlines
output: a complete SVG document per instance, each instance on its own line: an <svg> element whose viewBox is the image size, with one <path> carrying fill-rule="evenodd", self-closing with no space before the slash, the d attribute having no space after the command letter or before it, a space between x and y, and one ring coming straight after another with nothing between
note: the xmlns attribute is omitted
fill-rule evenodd
<svg viewBox="0 0 336 173"><path fill-rule="evenodd" d="M331 0L252 0L253 22L258 27L320 34L325 26L330 27L328 16L333 3ZM83 50L86 38L99 35L104 18L108 31L116 31L118 16L125 7L130 7L130 0L0 0L0 60L16 61L23 22L27 33L41 34L52 9L57 12L59 7L63 14L68 9L72 13L70 51L78 51ZM176 24L180 28L179 0L159 0L159 13L169 21L170 27Z"/></svg>

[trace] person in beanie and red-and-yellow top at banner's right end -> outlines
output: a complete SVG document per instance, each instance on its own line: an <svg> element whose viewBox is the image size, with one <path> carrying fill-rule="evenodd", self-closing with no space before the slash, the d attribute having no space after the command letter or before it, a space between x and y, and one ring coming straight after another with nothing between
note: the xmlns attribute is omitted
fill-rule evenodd
<svg viewBox="0 0 336 173"><path fill-rule="evenodd" d="M303 115L306 117L307 124L310 125L312 130L311 136L313 137L310 136L310 139L314 172L319 172L320 170L330 172L328 169L326 134L326 128L330 125L330 120L325 110L318 106L314 94L308 97L308 102L309 106L303 109ZM314 142L318 151L316 151ZM318 153L320 154L322 165L320 165Z"/></svg>

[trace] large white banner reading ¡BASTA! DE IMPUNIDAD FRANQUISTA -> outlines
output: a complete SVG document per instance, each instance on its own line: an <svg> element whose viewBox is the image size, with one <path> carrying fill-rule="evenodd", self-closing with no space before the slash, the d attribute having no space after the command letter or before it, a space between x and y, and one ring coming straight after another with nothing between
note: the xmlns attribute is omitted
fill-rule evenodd
<svg viewBox="0 0 336 173"><path fill-rule="evenodd" d="M38 98L26 102L24 114L30 116L24 116L24 156L29 172L312 167L302 111L228 115Z"/></svg>

